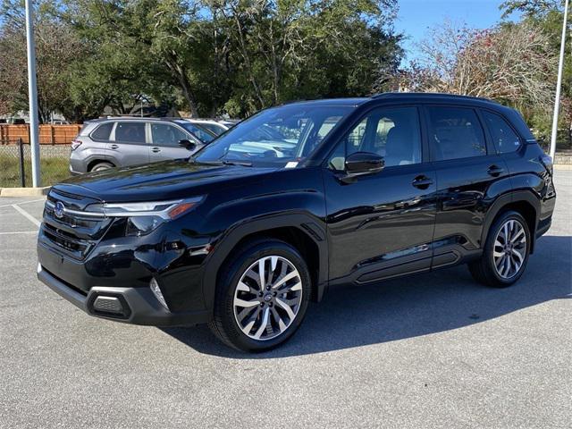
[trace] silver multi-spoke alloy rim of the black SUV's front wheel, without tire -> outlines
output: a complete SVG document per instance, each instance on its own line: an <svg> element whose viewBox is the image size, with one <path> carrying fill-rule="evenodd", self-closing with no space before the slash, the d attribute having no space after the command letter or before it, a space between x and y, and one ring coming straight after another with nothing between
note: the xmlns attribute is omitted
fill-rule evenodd
<svg viewBox="0 0 572 429"><path fill-rule="evenodd" d="M261 257L242 273L234 290L234 318L240 330L257 341L285 332L302 303L302 280L285 257Z"/></svg>

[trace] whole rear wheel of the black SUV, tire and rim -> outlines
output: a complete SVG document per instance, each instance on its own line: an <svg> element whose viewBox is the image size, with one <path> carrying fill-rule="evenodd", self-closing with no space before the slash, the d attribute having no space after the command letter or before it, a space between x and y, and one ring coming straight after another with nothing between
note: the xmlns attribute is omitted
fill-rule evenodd
<svg viewBox="0 0 572 429"><path fill-rule="evenodd" d="M505 235L509 236L509 243L504 240ZM483 256L468 264L469 271L477 282L494 288L506 288L517 282L525 272L530 243L525 218L515 211L505 212L492 223Z"/></svg>

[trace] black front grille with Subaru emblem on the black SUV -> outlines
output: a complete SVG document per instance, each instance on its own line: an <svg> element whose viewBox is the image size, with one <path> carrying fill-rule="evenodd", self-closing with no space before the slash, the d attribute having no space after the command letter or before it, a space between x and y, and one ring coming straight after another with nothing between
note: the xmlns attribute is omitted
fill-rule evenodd
<svg viewBox="0 0 572 429"><path fill-rule="evenodd" d="M55 205L58 202L69 212L56 215ZM46 246L56 248L73 259L85 259L113 222L111 218L97 217L84 211L86 206L94 203L97 203L97 200L93 198L82 198L52 190L44 208L40 240Z"/></svg>

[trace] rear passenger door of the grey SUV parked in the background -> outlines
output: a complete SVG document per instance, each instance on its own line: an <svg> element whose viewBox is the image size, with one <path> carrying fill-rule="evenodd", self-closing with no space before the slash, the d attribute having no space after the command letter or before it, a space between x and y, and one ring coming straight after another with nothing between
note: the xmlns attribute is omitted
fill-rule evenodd
<svg viewBox="0 0 572 429"><path fill-rule="evenodd" d="M109 149L118 165L147 164L149 147L144 121L118 121Z"/></svg>

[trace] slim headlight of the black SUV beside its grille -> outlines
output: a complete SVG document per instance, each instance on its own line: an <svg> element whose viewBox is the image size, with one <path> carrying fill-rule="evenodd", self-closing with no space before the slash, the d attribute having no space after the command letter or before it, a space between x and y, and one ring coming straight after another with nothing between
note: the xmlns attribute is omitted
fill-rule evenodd
<svg viewBox="0 0 572 429"><path fill-rule="evenodd" d="M175 201L92 204L87 207L87 212L105 217L127 217L127 235L139 236L188 213L202 200L203 197L196 197Z"/></svg>

